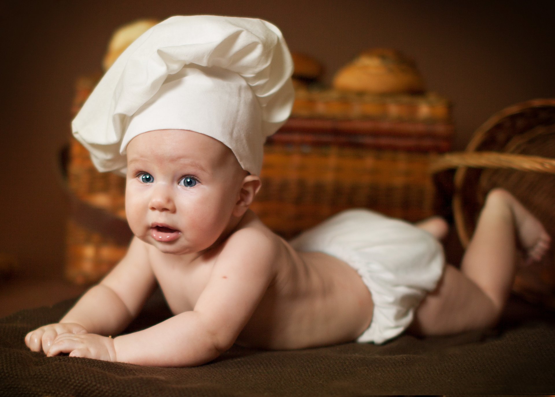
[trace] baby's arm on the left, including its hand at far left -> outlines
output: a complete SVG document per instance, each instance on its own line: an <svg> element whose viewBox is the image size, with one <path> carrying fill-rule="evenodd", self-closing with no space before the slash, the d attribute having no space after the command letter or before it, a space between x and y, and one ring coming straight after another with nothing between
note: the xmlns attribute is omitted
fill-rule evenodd
<svg viewBox="0 0 555 397"><path fill-rule="evenodd" d="M60 334L117 334L137 315L154 285L144 243L135 237L122 261L59 323L29 332L25 343L34 352L48 353Z"/></svg>

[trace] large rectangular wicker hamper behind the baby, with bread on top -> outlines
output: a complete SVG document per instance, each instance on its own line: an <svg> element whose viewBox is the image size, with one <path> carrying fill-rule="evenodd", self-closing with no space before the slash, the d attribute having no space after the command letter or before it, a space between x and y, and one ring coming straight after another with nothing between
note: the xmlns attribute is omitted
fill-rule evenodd
<svg viewBox="0 0 555 397"><path fill-rule="evenodd" d="M97 79L79 80L74 113ZM428 167L450 150L452 135L449 105L437 95L297 91L292 118L265 145L263 188L251 208L285 238L350 207L420 220L433 213ZM95 170L77 140L69 151L73 210L65 274L92 283L122 257L132 236L125 181Z"/></svg>

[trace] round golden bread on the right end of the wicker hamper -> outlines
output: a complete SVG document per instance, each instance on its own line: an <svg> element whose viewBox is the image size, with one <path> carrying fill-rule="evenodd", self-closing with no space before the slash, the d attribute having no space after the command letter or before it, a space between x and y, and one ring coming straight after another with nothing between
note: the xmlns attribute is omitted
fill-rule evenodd
<svg viewBox="0 0 555 397"><path fill-rule="evenodd" d="M362 52L336 73L337 90L372 94L419 94L425 91L422 76L412 59L388 48Z"/></svg>

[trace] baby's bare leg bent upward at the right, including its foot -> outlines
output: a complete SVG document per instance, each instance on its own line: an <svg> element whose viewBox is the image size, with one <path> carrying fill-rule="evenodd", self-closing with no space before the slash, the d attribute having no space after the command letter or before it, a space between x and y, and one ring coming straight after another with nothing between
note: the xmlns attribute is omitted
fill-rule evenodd
<svg viewBox="0 0 555 397"><path fill-rule="evenodd" d="M517 267L516 238L528 259L540 259L550 238L516 198L488 194L461 270L447 266L435 291L417 308L412 332L441 335L492 327L507 301Z"/></svg>

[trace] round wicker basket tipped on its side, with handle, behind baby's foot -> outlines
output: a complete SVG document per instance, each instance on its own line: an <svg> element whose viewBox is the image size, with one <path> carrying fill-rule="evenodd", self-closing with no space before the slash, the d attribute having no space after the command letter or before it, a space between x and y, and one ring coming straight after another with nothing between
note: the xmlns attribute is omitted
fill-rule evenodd
<svg viewBox="0 0 555 397"><path fill-rule="evenodd" d="M493 187L510 191L555 237L555 99L527 101L493 115L476 130L466 152L432 164L432 172L450 168L456 168L452 207L463 246ZM555 250L520 268L513 290L555 308Z"/></svg>

